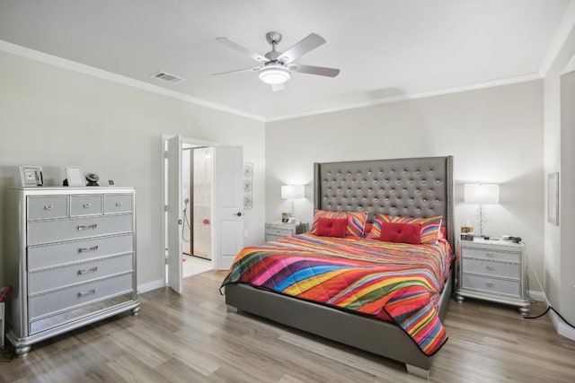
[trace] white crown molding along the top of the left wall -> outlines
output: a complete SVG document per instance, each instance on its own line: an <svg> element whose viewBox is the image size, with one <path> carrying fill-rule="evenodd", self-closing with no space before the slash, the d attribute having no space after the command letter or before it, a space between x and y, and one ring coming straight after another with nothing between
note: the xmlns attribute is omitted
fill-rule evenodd
<svg viewBox="0 0 575 383"><path fill-rule="evenodd" d="M10 53L19 57L29 58L31 60L39 61L40 63L57 66L59 68L67 69L77 73L91 75L93 77L111 81L112 83L119 83L132 88L136 88L141 91L149 91L152 93L160 94L162 96L171 97L173 99L190 102L190 104L199 105L209 109L216 109L243 118L251 118L257 121L265 122L265 118L258 115L245 113L242 110L227 108L217 103L210 102L207 100L201 100L196 97L191 97L187 94L183 94L178 91L171 91L169 89L165 89L160 86L153 85L151 83L145 83L143 81L135 80L133 78L126 77L120 74L113 74L111 72L104 71L102 69L90 65L84 65L77 63L75 61L67 60L66 58L52 56L47 53L40 52L38 50L12 44L4 40L0 40L0 51Z"/></svg>

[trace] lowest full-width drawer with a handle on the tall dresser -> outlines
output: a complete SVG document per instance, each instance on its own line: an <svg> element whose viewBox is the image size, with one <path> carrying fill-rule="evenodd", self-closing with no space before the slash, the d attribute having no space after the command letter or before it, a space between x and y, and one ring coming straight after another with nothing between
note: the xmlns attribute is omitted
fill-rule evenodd
<svg viewBox="0 0 575 383"><path fill-rule="evenodd" d="M130 291L132 291L132 273L29 297L29 318L32 321L63 309L74 309L95 300L103 300Z"/></svg>

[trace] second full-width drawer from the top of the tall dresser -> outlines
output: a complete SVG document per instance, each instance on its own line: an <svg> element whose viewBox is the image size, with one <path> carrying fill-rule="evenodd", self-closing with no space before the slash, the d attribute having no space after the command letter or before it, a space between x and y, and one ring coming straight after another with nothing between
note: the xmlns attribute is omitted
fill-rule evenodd
<svg viewBox="0 0 575 383"><path fill-rule="evenodd" d="M28 248L28 271L134 251L132 234Z"/></svg>

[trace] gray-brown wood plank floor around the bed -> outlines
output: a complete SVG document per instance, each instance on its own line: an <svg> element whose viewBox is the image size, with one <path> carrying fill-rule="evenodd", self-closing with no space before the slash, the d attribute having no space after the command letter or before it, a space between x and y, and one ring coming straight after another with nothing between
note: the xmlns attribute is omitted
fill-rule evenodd
<svg viewBox="0 0 575 383"><path fill-rule="evenodd" d="M141 294L139 317L121 315L35 344L27 358L0 362L0 382L422 381L401 363L226 312L217 289L223 278L187 278L183 296ZM575 381L575 342L557 335L547 316L526 320L514 308L452 300L444 323L449 340L430 381Z"/></svg>

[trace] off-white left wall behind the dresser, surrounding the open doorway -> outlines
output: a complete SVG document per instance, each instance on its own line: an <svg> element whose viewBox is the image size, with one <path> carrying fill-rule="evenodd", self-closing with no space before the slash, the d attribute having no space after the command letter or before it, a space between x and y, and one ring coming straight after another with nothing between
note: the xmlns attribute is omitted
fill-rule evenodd
<svg viewBox="0 0 575 383"><path fill-rule="evenodd" d="M47 185L61 185L64 167L79 165L118 186L134 186L137 283L161 281L161 135L183 135L243 145L244 160L254 164L245 240L263 240L263 123L4 52L0 84L0 215L4 188L19 183L20 164L42 165Z"/></svg>

